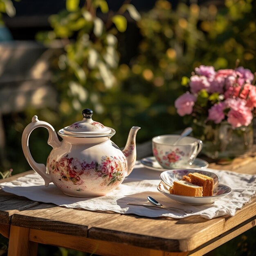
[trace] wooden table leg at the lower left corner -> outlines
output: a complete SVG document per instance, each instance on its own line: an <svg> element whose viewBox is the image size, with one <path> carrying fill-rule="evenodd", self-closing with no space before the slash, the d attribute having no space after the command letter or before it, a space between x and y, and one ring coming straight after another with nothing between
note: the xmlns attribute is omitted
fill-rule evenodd
<svg viewBox="0 0 256 256"><path fill-rule="evenodd" d="M29 241L29 229L11 225L8 256L36 256L37 246Z"/></svg>

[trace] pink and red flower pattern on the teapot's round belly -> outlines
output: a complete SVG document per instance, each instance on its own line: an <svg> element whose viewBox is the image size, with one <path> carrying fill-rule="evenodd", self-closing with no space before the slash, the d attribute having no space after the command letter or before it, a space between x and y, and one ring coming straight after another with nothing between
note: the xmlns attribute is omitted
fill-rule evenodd
<svg viewBox="0 0 256 256"><path fill-rule="evenodd" d="M48 159L49 160L49 159ZM125 176L127 164L125 157L103 156L101 162L80 161L76 157L68 155L61 157L58 161L49 161L49 169L53 174L58 175L58 180L63 184L78 185L77 191L84 191L87 184L84 184L82 176L93 176L94 179L102 179L100 186L116 186ZM72 183L70 183L72 182ZM71 186L66 186L71 188Z"/></svg>

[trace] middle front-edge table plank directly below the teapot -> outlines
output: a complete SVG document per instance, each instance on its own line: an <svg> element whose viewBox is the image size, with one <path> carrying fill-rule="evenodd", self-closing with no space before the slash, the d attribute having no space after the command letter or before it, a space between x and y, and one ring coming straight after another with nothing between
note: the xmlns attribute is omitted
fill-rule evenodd
<svg viewBox="0 0 256 256"><path fill-rule="evenodd" d="M86 237L88 227L94 223L103 223L118 216L117 213L97 213L54 204L40 204L14 214L12 225Z"/></svg>

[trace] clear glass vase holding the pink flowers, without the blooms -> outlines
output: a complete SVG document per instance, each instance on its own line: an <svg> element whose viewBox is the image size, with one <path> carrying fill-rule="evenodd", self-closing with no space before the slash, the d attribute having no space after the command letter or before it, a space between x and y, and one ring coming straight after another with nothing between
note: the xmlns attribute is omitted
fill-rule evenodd
<svg viewBox="0 0 256 256"><path fill-rule="evenodd" d="M234 158L253 146L253 126L233 128L227 121L218 125L195 124L194 137L203 141L202 153L212 159Z"/></svg>

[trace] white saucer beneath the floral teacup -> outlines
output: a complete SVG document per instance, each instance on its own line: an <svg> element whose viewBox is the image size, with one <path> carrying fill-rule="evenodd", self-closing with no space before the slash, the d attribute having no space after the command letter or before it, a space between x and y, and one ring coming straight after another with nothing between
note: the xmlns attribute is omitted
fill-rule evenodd
<svg viewBox="0 0 256 256"><path fill-rule="evenodd" d="M157 162L155 157L145 157L140 160L141 164L143 164L146 168L154 170L154 171L166 171L170 169L165 169L162 168L162 166ZM196 158L195 161L191 166L186 166L184 168L189 168L189 169L203 169L207 168L209 166L209 163L203 159ZM176 168L177 169L177 168ZM179 168L181 169L181 168Z"/></svg>

